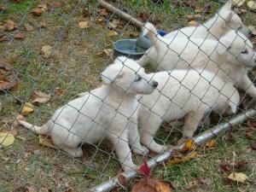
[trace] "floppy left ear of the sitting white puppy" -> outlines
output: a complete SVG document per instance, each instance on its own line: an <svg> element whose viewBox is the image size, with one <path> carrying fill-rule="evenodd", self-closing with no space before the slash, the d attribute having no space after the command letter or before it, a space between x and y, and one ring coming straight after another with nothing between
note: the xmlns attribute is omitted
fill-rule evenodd
<svg viewBox="0 0 256 192"><path fill-rule="evenodd" d="M110 84L123 75L122 67L117 64L108 66L101 74L103 84Z"/></svg>

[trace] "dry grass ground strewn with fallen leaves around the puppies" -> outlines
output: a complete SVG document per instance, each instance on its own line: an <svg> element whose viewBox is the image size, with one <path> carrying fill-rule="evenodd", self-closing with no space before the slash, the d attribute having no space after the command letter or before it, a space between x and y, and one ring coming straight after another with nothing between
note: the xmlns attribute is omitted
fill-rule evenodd
<svg viewBox="0 0 256 192"><path fill-rule="evenodd" d="M57 1L48 1L49 5ZM144 14L156 26L166 31L172 31L187 25L186 15L195 14L191 7L177 3L177 1L163 0L162 4L154 4L151 1L122 1L115 2L120 9L125 9L129 14L139 17ZM205 0L196 1L195 5L202 6ZM38 137L30 131L16 127L13 122L20 113L25 102L32 101L32 91L41 90L51 97L48 103L35 105L34 113L26 116L26 120L37 124L44 124L55 112L56 108L75 98L82 91L96 88L100 83L100 73L111 61L112 57L99 56L97 52L102 49L112 49L113 41L118 38L131 38L131 34L138 34L137 28L126 25L114 29L119 32L118 37L107 38L106 20L103 24L97 19L96 1L88 3L82 1L79 6L72 0L65 1L58 9L50 9L40 16L32 16L31 9L37 6L37 1L20 1L13 3L5 1L6 12L0 12L1 22L15 20L18 27L14 32L7 32L7 42L0 42L0 59L11 60L12 73L18 77L18 87L12 91L3 91L0 94L2 110L0 114L0 131L18 129L19 137L15 137L15 143L7 148L0 148L0 191L23 191L24 188L47 188L52 191L65 191L74 189L84 191L109 177L116 176L120 171L119 162L108 141L94 146L84 146L84 158L73 159L59 150L40 146ZM210 3L212 9L207 15L202 15L201 20L206 20L221 5ZM90 9L91 15L85 17L84 9ZM109 18L116 16L109 15ZM3 20L2 20L3 18ZM256 22L255 14L247 12L242 15L247 25ZM30 22L38 26L39 22L47 21L47 28L39 28L33 32L26 32L23 24ZM88 28L80 29L80 20L88 21ZM255 21L255 22L254 22ZM122 21L123 22L123 21ZM123 27L125 26L125 27ZM63 29L68 32L67 38L62 42L56 42L56 35ZM13 38L15 32L25 32L24 40ZM43 58L41 48L49 44L54 49L52 57ZM63 95L58 95L58 90ZM166 127L166 126L165 126ZM164 127L163 127L164 128ZM191 181L198 178L210 178L211 187L198 186L191 191L253 191L253 183L227 184L224 183L223 173L218 172L220 159L249 160L250 164L244 172L250 179L255 180L255 151L247 153L244 148L249 148L250 141L245 139L246 126L241 126L241 131L233 131L236 140L226 141L225 137L218 137L218 149L207 151L200 148L202 155L196 160L179 166L157 166L153 170L154 177L160 177L164 181L172 182L177 191L186 191L185 187ZM170 127L161 129L157 138L159 143L165 141L168 144L177 143L181 137L180 132L169 134ZM256 137L256 136L255 136ZM234 155L235 151L236 155ZM133 155L137 164L143 158ZM135 182L134 178L132 182ZM127 189L129 191L133 183Z"/></svg>

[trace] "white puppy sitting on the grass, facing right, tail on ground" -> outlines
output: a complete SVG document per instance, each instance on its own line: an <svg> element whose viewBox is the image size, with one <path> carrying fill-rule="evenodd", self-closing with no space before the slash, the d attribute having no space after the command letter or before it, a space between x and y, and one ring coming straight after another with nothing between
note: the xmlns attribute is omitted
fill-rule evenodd
<svg viewBox="0 0 256 192"><path fill-rule="evenodd" d="M83 154L82 143L97 143L103 137L113 143L124 170L134 168L131 150L146 154L137 131L137 94L150 94L157 86L143 67L126 57L117 58L102 72L102 86L68 102L49 121L38 127L20 120L26 128L49 135L55 146L73 157Z"/></svg>

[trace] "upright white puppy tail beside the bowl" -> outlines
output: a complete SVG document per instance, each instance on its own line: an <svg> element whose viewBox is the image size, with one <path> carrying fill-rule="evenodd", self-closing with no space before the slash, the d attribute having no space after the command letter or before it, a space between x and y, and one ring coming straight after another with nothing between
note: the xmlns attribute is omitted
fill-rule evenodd
<svg viewBox="0 0 256 192"><path fill-rule="evenodd" d="M152 23L146 23L143 26L143 36L148 35L152 44L154 44L154 48L158 51L160 44L160 35L158 35L156 28Z"/></svg>

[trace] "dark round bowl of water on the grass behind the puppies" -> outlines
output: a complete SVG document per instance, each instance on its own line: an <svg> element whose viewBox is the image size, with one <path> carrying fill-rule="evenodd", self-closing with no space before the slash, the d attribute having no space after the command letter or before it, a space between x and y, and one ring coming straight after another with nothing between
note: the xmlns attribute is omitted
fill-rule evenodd
<svg viewBox="0 0 256 192"><path fill-rule="evenodd" d="M141 58L147 49L137 47L137 39L120 39L113 44L113 55L115 57L125 55L131 59Z"/></svg>

